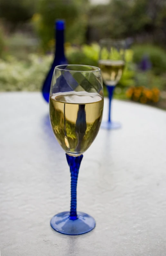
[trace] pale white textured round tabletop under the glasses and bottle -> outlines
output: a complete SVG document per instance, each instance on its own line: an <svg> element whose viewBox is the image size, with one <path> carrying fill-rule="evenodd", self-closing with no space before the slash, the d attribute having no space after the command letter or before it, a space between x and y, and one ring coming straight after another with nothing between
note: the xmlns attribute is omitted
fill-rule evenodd
<svg viewBox="0 0 166 256"><path fill-rule="evenodd" d="M166 111L113 100L122 128L100 129L79 170L77 209L97 223L80 236L50 227L70 173L48 111L40 93L0 94L1 255L165 256Z"/></svg>

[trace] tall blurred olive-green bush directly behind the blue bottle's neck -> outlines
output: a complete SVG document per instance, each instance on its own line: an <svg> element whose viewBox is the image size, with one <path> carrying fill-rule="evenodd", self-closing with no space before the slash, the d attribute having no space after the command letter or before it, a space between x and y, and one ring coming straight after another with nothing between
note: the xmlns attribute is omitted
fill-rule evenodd
<svg viewBox="0 0 166 256"><path fill-rule="evenodd" d="M41 39L44 51L50 50L50 40L55 35L54 22L56 19L66 20L66 41L80 44L84 42L87 26L87 0L40 0L38 12L32 17L34 28Z"/></svg>

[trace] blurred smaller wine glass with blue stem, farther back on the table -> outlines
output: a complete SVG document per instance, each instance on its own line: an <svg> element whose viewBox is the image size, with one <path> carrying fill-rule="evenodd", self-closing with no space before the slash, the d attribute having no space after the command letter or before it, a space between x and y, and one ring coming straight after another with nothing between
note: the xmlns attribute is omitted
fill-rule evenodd
<svg viewBox="0 0 166 256"><path fill-rule="evenodd" d="M111 101L115 85L119 82L124 67L125 40L101 39L98 65L101 69L103 82L106 84L109 95L108 121L102 122L101 127L106 129L120 128L121 124L111 120Z"/></svg>

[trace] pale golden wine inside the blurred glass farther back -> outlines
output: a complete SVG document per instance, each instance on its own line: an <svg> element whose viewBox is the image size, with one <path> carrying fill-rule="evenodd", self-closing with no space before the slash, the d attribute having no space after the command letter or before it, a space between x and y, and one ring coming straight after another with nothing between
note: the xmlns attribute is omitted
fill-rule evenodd
<svg viewBox="0 0 166 256"><path fill-rule="evenodd" d="M98 64L104 83L106 85L115 86L122 76L125 62L122 60L100 60Z"/></svg>

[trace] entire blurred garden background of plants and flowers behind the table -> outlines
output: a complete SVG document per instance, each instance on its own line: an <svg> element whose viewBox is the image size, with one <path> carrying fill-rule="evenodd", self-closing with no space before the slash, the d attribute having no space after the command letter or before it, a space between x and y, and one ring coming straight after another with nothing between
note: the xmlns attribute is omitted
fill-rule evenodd
<svg viewBox="0 0 166 256"><path fill-rule="evenodd" d="M58 18L66 23L69 64L97 66L99 40L124 38L125 68L114 98L166 109L165 13L163 0L1 0L0 91L41 91Z"/></svg>

